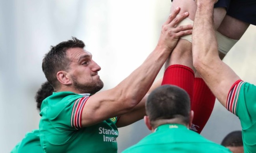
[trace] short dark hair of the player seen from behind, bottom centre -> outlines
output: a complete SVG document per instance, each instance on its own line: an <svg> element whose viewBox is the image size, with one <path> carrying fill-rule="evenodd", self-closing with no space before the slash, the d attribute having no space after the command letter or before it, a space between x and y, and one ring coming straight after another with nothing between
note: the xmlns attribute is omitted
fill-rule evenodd
<svg viewBox="0 0 256 153"><path fill-rule="evenodd" d="M184 124L189 124L189 111L189 95L177 86L160 86L148 95L146 101L146 113L151 123L159 119L180 118Z"/></svg>

